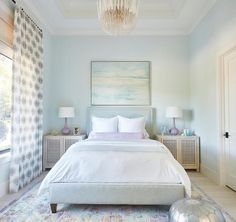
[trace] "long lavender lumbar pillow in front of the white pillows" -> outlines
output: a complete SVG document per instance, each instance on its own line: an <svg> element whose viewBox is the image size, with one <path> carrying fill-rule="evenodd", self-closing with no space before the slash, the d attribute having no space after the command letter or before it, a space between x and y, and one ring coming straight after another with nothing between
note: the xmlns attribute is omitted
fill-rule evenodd
<svg viewBox="0 0 236 222"><path fill-rule="evenodd" d="M89 134L89 139L97 140L135 140L144 139L144 135L141 132L138 133L95 133Z"/></svg>

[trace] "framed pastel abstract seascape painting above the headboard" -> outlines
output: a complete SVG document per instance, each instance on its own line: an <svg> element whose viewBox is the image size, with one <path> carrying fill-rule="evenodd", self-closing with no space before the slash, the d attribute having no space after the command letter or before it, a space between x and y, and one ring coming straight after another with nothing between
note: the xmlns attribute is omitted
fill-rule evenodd
<svg viewBox="0 0 236 222"><path fill-rule="evenodd" d="M91 104L150 105L149 61L92 61Z"/></svg>

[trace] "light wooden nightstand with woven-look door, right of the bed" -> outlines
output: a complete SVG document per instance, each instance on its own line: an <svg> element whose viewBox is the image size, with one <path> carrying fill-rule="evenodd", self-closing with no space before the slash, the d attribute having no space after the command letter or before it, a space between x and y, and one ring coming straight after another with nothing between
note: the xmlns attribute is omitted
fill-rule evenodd
<svg viewBox="0 0 236 222"><path fill-rule="evenodd" d="M157 137L170 150L174 158L184 169L195 169L199 172L198 136L158 135Z"/></svg>

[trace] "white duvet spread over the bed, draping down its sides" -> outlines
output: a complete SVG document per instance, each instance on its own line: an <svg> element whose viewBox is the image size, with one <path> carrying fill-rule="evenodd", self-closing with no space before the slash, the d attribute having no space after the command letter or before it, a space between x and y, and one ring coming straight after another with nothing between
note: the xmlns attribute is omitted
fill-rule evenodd
<svg viewBox="0 0 236 222"><path fill-rule="evenodd" d="M44 178L39 194L50 183L191 184L183 167L160 142L84 140L73 144Z"/></svg>

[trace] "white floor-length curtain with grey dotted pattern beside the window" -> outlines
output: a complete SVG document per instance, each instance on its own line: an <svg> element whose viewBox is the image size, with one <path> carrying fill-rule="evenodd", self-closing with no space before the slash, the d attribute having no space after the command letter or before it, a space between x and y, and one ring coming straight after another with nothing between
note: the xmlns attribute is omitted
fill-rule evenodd
<svg viewBox="0 0 236 222"><path fill-rule="evenodd" d="M35 23L16 7L10 192L17 192L42 171L42 37Z"/></svg>

